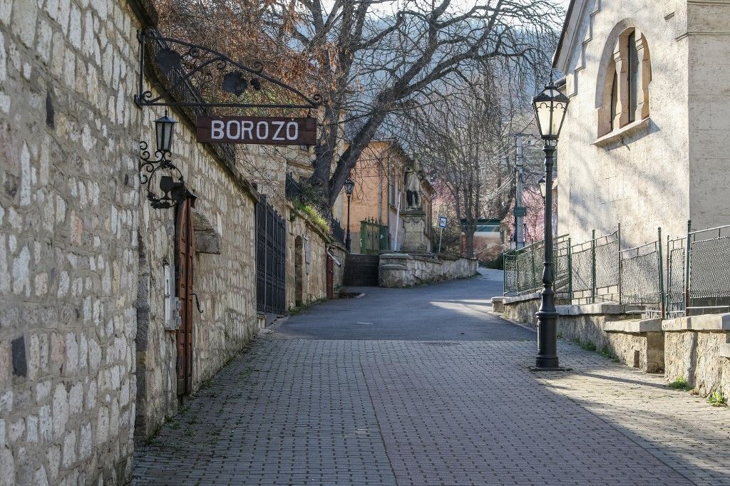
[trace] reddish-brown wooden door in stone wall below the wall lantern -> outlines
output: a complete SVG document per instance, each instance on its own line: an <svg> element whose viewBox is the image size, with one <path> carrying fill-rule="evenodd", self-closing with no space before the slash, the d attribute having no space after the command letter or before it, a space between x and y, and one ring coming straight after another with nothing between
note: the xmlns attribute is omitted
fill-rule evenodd
<svg viewBox="0 0 730 486"><path fill-rule="evenodd" d="M192 199L177 205L175 225L175 279L183 323L177 330L177 394L192 391L193 376L193 218Z"/></svg>

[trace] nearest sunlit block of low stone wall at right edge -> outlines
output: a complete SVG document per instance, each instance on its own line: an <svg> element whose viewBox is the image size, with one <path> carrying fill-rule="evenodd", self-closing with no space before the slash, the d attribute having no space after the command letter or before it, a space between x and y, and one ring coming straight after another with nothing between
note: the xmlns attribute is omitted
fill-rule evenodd
<svg viewBox="0 0 730 486"><path fill-rule="evenodd" d="M701 395L730 396L730 314L677 317L662 323L664 377L684 378Z"/></svg>

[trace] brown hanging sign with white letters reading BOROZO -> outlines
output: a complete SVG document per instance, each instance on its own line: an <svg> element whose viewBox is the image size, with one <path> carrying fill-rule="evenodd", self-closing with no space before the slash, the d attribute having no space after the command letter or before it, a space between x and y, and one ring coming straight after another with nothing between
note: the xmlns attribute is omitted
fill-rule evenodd
<svg viewBox="0 0 730 486"><path fill-rule="evenodd" d="M207 144L314 145L317 120L285 117L198 117L198 142Z"/></svg>

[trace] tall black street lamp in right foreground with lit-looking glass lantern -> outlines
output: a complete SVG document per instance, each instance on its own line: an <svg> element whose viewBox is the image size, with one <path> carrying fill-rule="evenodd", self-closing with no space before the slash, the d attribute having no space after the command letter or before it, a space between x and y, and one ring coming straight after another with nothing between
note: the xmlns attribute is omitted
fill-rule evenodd
<svg viewBox="0 0 730 486"><path fill-rule="evenodd" d="M558 366L558 311L553 290L553 163L569 99L553 85L532 99L537 128L545 152L545 181L540 181L540 192L545 198L545 268L542 271L542 293L537 311L537 360L534 370L560 370Z"/></svg>

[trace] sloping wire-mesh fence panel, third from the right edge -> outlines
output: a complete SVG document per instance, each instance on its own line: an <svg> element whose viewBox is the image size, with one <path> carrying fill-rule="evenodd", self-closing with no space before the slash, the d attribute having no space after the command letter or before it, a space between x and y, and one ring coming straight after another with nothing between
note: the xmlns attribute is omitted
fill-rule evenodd
<svg viewBox="0 0 730 486"><path fill-rule="evenodd" d="M661 228L656 242L619 252L621 304L646 306L644 311L664 315L664 270Z"/></svg>

